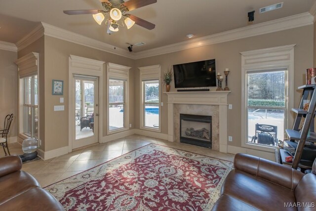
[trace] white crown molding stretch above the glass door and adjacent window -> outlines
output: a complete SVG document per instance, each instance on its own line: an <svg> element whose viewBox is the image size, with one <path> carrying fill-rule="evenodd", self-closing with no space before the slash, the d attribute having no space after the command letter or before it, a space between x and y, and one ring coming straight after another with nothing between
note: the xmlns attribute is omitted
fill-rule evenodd
<svg viewBox="0 0 316 211"><path fill-rule="evenodd" d="M49 25L47 23L41 22L42 26L44 27L44 35L57 38L60 40L73 42L76 44L84 45L87 47L92 47L98 50L102 50L105 52L117 54L119 56L124 56L127 58L132 58L131 54L122 48L115 47L114 45L107 44L105 42L97 41L77 33L70 32L65 29L58 28L56 26ZM116 48L116 49L114 49Z"/></svg>

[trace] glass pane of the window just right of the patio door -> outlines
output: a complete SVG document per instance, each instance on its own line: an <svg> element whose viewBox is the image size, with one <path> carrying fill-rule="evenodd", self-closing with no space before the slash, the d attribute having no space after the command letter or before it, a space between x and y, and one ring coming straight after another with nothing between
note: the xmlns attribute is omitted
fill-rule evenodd
<svg viewBox="0 0 316 211"><path fill-rule="evenodd" d="M109 80L109 130L125 127L125 81Z"/></svg>

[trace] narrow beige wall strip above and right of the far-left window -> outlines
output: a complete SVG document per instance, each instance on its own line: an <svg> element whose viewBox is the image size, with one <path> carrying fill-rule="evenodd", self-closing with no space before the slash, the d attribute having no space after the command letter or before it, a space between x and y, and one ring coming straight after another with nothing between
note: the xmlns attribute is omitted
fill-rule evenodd
<svg viewBox="0 0 316 211"><path fill-rule="evenodd" d="M45 81L44 81L44 65L45 65L45 52L44 52L44 36L37 41L18 51L18 58L21 58L30 52L39 53L39 138L41 140L40 149L45 149Z"/></svg>

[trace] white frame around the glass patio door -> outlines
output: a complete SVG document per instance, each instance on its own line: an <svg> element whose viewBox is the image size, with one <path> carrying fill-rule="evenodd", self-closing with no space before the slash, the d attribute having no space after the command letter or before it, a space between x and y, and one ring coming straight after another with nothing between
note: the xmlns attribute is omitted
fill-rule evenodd
<svg viewBox="0 0 316 211"><path fill-rule="evenodd" d="M99 77L99 87L98 87L98 98L99 98L99 122L98 122L98 142L101 143L103 136L103 71L104 71L103 61L84 58L80 56L70 55L69 56L69 109L68 109L68 152L73 151L73 139L76 138L75 131L73 129L74 123L71 121L72 118L75 118L75 94L74 87L75 83L73 80L73 74L87 75L87 76L96 76Z"/></svg>

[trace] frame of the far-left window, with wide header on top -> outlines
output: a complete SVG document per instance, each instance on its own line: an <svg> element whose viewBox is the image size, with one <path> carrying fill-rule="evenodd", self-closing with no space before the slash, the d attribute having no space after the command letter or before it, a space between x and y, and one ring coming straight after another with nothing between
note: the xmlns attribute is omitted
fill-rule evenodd
<svg viewBox="0 0 316 211"><path fill-rule="evenodd" d="M38 76L38 133L37 138L40 139L40 76L39 76L39 53L30 52L25 56L15 61L18 65L19 77L19 109L18 109L18 136L21 139L29 138L28 134L24 133L24 79L32 76ZM32 95L32 93L31 93ZM32 99L32 98L31 98ZM34 99L32 99L34 104ZM32 105L31 105L32 106ZM33 115L32 115L33 116ZM32 121L35 121L34 118ZM34 125L34 123L32 123ZM33 127L33 126L32 126Z"/></svg>

